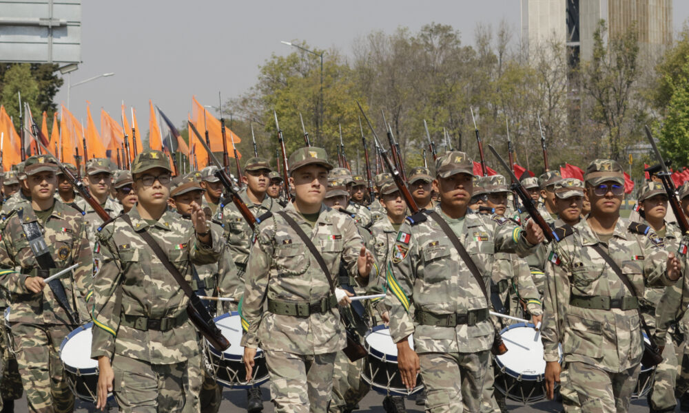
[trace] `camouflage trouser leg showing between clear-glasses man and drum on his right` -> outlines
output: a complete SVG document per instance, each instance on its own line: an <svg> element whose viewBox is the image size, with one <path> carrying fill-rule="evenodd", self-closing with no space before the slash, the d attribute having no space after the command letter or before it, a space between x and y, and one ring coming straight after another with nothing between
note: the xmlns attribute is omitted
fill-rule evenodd
<svg viewBox="0 0 689 413"><path fill-rule="evenodd" d="M198 353L198 356L189 359L185 391L187 393L185 413L218 413L220 410L220 403L223 401L223 389L208 374L201 352Z"/></svg>

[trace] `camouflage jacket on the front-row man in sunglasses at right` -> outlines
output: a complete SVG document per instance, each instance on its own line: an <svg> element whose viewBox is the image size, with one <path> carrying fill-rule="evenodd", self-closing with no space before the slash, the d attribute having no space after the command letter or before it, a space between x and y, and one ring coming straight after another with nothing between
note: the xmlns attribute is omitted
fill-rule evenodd
<svg viewBox="0 0 689 413"><path fill-rule="evenodd" d="M556 230L560 241L551 246L555 251L546 265L541 332L544 359L559 360L558 345L562 343L565 361L580 361L609 372L631 368L639 363L642 352L638 310L582 308L570 303L586 297L626 297L630 301L635 294L643 296L646 286L672 284L666 274L668 253L663 242L650 229L646 234L633 233L626 222L617 220L608 254L632 282L633 293L590 248L600 241L586 220L573 231L566 228Z"/></svg>

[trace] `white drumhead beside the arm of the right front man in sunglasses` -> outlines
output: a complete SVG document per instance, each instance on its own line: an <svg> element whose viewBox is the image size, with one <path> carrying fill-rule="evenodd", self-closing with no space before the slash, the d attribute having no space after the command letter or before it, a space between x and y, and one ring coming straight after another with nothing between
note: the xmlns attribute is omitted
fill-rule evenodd
<svg viewBox="0 0 689 413"><path fill-rule="evenodd" d="M501 336L507 352L497 356L497 359L503 366L517 374L538 375L546 372L540 332L533 327L513 327L504 330Z"/></svg>

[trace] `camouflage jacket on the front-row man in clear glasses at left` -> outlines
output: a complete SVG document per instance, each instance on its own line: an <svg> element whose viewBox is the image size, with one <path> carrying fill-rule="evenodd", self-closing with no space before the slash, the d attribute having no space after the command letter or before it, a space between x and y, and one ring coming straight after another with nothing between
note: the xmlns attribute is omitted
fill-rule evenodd
<svg viewBox="0 0 689 413"><path fill-rule="evenodd" d="M154 364L185 361L198 351L196 331L190 321L172 330L138 330L121 318L174 318L185 313L189 299L161 260L138 233L148 231L174 264L192 282L192 264L217 262L225 244L222 233L211 226L212 246L198 242L194 226L167 210L150 225L132 208L134 229L123 219L107 224L94 245L94 321L91 357L121 354Z"/></svg>

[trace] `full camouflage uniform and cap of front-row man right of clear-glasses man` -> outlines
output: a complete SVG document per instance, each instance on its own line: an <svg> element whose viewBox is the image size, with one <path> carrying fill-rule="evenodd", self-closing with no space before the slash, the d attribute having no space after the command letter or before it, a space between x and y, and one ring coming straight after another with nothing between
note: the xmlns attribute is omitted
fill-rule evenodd
<svg viewBox="0 0 689 413"><path fill-rule="evenodd" d="M302 148L289 157L293 173L311 164L331 169L324 149ZM362 239L351 218L322 206L312 227L294 204L288 204L285 213L311 235L333 277L343 260L349 274L359 278L356 263ZM242 346L263 348L276 412L325 412L333 363L338 350L345 348L345 329L326 275L279 215L260 223L245 280L242 315L248 330Z"/></svg>

